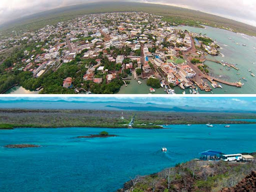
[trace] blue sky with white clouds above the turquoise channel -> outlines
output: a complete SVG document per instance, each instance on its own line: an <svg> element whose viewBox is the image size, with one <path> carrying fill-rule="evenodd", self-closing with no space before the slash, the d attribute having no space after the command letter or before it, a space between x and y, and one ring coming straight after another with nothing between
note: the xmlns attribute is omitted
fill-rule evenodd
<svg viewBox="0 0 256 192"><path fill-rule="evenodd" d="M34 104L30 104L29 102L33 102ZM61 101L61 103L59 103ZM58 107L59 104L61 106L68 106L80 108L85 107L77 101L87 101L87 102L99 102L99 104L90 106L93 109L93 106L104 106L105 104L101 105L101 102L110 102L115 101L119 102L121 106L121 102L126 103L154 103L154 104L164 104L169 106L193 106L193 107L209 107L209 108L225 108L225 109L242 109L242 110L255 110L256 109L256 97L212 97L212 96L200 96L200 97L169 97L158 95L136 95L134 96L112 96L112 95L102 95L97 97L77 97L77 96L56 96L52 97L51 95L45 95L45 97L41 97L40 95L32 95L32 97L16 97L16 96L0 96L0 108L29 108L29 107L38 107L38 108L54 108L54 106ZM63 104L63 102L65 104ZM202 104L203 103L203 104ZM86 106L89 104L86 104ZM61 107L62 108L62 107ZM96 108L99 109L99 108Z"/></svg>

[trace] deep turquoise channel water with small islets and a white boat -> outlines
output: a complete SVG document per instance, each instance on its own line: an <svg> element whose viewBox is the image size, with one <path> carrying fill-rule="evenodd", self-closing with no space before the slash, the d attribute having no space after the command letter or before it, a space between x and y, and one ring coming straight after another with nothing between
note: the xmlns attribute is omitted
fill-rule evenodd
<svg viewBox="0 0 256 192"><path fill-rule="evenodd" d="M115 191L207 149L256 151L256 124L169 125L166 129L17 128L0 130L0 191ZM118 137L74 138L106 130ZM210 133L210 134L209 134ZM3 148L31 143L39 148ZM160 148L168 151L162 153Z"/></svg>

